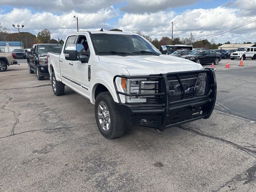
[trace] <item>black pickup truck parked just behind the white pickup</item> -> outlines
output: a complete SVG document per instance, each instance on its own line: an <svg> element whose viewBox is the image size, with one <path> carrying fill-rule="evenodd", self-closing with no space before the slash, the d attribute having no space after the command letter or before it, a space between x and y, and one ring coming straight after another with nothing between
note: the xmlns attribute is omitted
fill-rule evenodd
<svg viewBox="0 0 256 192"><path fill-rule="evenodd" d="M36 72L38 80L44 80L44 76L49 74L47 53L61 52L61 50L62 45L59 44L34 44L27 56L29 73Z"/></svg>

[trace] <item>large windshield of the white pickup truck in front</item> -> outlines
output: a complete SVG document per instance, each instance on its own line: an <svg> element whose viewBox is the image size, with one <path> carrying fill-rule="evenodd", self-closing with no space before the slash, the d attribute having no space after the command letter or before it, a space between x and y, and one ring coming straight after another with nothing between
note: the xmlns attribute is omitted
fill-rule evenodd
<svg viewBox="0 0 256 192"><path fill-rule="evenodd" d="M150 42L139 35L91 34L96 55L160 55Z"/></svg>

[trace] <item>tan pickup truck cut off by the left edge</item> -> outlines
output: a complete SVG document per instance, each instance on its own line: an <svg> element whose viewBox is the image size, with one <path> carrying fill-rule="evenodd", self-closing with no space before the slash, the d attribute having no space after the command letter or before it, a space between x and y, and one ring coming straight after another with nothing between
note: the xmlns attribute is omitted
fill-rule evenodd
<svg viewBox="0 0 256 192"><path fill-rule="evenodd" d="M17 65L18 62L15 60L15 54L10 52L0 51L0 72L7 70L10 65Z"/></svg>

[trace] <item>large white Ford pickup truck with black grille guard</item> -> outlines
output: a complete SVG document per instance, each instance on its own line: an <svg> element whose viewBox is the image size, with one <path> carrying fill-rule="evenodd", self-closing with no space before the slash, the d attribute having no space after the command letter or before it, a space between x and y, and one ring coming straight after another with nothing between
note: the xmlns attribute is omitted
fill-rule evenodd
<svg viewBox="0 0 256 192"><path fill-rule="evenodd" d="M74 32L47 60L54 94L68 86L90 99L108 139L122 136L127 122L163 131L209 118L216 101L212 68L161 54L138 34Z"/></svg>

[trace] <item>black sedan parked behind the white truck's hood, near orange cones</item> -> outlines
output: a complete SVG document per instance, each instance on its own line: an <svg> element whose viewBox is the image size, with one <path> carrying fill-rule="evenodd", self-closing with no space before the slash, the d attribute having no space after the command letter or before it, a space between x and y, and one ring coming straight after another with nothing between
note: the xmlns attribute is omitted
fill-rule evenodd
<svg viewBox="0 0 256 192"><path fill-rule="evenodd" d="M181 58L185 58L199 64L214 62L215 65L218 65L221 60L221 54L212 50L198 50L193 51L189 55L181 56Z"/></svg>

